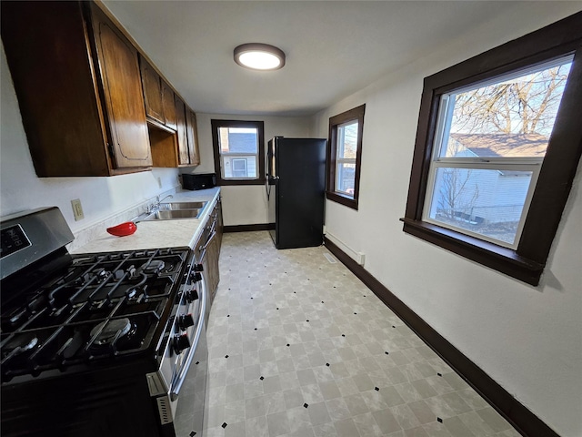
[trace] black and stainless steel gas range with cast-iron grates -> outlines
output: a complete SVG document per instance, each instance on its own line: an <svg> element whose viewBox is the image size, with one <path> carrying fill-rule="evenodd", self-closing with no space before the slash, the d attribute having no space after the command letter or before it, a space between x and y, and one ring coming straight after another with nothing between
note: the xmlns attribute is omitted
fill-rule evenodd
<svg viewBox="0 0 582 437"><path fill-rule="evenodd" d="M71 255L58 208L3 218L0 232L2 435L202 435L206 291L194 252Z"/></svg>

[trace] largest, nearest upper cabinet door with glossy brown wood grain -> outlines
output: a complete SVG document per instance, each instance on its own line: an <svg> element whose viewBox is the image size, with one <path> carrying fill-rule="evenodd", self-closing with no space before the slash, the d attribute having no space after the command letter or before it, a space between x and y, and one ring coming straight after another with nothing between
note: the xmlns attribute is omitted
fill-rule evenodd
<svg viewBox="0 0 582 437"><path fill-rule="evenodd" d="M149 167L152 157L137 52L96 6L92 12L115 167Z"/></svg>

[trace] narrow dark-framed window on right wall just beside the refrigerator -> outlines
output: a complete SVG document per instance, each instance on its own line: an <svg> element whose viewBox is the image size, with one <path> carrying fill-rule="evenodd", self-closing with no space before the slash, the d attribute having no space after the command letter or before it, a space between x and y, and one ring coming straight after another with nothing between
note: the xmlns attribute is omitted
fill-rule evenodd
<svg viewBox="0 0 582 437"><path fill-rule="evenodd" d="M329 118L327 192L330 200L357 209L366 105Z"/></svg>

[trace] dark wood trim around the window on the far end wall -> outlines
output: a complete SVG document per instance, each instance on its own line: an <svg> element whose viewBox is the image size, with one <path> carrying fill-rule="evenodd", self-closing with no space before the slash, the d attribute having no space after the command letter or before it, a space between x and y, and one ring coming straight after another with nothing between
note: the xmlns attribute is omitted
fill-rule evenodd
<svg viewBox="0 0 582 437"><path fill-rule="evenodd" d="M246 120L210 120L212 126L212 145L215 155L216 185L265 185L265 122ZM258 132L258 178L256 179L225 179L220 170L220 146L218 143L219 127L255 127Z"/></svg>

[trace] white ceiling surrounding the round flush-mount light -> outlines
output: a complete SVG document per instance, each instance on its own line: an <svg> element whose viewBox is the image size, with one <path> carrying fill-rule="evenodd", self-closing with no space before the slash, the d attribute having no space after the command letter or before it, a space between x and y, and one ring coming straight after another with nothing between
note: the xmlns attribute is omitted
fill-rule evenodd
<svg viewBox="0 0 582 437"><path fill-rule="evenodd" d="M114 1L105 6L196 112L311 115L472 27L490 1ZM233 50L266 43L286 66L256 72Z"/></svg>

